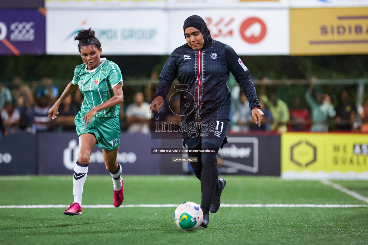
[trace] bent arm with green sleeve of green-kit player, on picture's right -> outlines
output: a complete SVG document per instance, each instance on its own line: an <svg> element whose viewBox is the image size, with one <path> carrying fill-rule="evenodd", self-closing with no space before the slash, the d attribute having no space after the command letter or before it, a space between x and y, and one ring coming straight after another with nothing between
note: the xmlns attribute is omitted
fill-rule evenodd
<svg viewBox="0 0 368 245"><path fill-rule="evenodd" d="M111 97L109 100L103 102L102 104L96 106L95 108L91 109L91 111L87 112L86 115L84 115L83 119L86 126L89 122L92 121L93 116L95 116L97 112L113 107L124 101L123 89L121 88L123 86L123 79L120 69L117 65L112 64L112 67L108 71L108 79L112 86L114 96Z"/></svg>

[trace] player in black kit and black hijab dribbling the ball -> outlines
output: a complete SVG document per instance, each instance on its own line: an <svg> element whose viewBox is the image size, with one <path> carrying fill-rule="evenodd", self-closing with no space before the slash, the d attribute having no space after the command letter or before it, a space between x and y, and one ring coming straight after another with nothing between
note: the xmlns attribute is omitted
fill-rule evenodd
<svg viewBox="0 0 368 245"><path fill-rule="evenodd" d="M187 43L176 48L166 61L150 112L159 112L175 78L188 88L180 98L181 125L185 125L183 145L187 149L216 149L211 154L188 154L198 158L198 162L191 162L191 165L201 181L204 213L201 226L206 228L209 212L216 213L220 207L220 195L226 184L224 179L218 179L216 158L218 149L227 143L231 100L226 82L230 72L247 96L252 117L259 126L263 112L248 68L235 51L229 45L213 40L204 20L197 15L188 17L183 28Z"/></svg>

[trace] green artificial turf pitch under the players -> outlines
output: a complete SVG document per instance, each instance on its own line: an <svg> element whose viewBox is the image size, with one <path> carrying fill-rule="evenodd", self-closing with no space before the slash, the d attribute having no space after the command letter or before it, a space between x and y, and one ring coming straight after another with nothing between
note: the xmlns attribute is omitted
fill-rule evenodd
<svg viewBox="0 0 368 245"><path fill-rule="evenodd" d="M367 204L319 181L226 176L222 203ZM25 180L24 180L25 179ZM361 195L367 181L334 181ZM71 176L0 177L1 205L63 204ZM359 192L361 191L361 192ZM123 205L200 203L192 176L124 177ZM367 195L366 195L367 196ZM88 176L83 205L112 204L109 176ZM207 229L180 230L171 208L1 208L0 244L368 244L368 208L220 208Z"/></svg>

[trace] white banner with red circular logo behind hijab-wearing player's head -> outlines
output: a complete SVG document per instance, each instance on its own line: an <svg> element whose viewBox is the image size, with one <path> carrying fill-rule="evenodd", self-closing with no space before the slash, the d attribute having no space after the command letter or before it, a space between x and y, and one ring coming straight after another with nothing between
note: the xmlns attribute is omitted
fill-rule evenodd
<svg viewBox="0 0 368 245"><path fill-rule="evenodd" d="M289 54L287 10L170 11L169 53L186 43L183 23L191 15L201 16L212 38L230 45L239 55Z"/></svg>

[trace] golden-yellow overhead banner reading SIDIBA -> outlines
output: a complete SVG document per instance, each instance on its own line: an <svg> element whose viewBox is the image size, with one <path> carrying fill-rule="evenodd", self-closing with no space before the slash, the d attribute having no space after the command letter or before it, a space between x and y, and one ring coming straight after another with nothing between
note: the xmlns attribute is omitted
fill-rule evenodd
<svg viewBox="0 0 368 245"><path fill-rule="evenodd" d="M368 8L290 9L290 54L367 54Z"/></svg>

